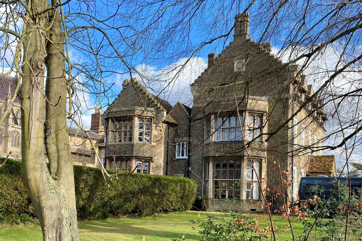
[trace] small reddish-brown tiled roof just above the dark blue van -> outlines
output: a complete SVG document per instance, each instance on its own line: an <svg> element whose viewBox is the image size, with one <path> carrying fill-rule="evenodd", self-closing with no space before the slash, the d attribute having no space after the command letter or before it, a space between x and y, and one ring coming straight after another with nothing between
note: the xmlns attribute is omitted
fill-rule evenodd
<svg viewBox="0 0 362 241"><path fill-rule="evenodd" d="M336 165L334 155L311 156L308 160L307 172L333 173Z"/></svg>

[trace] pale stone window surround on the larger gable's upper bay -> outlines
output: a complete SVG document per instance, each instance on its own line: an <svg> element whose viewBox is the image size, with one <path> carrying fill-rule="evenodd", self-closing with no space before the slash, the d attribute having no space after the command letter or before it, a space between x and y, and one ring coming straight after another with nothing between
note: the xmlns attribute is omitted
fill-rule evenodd
<svg viewBox="0 0 362 241"><path fill-rule="evenodd" d="M245 137L245 140L248 140L248 116L249 116L249 113L252 114L252 115L261 115L261 120L260 120L260 133L263 133L263 129L265 127L265 123L264 123L264 120L265 120L265 117L266 117L266 112L263 112L263 111L254 111L254 110L239 110L239 113L240 113L240 119L241 119L241 122L243 123L243 125L241 126L243 128L243 136ZM236 116L237 117L237 113L236 112L227 112L225 115L223 116L227 116L227 117L230 117L230 116ZM245 117L245 115L247 115ZM208 144L219 144L219 143L237 143L237 142L243 142L243 140L241 139L240 141L216 141L216 122L217 122L217 113L212 113L211 115L207 115L205 116L205 145L208 145ZM210 120L210 125L207 124L207 121ZM244 121L245 120L245 121ZM210 126L210 129L211 130L208 130L208 126ZM211 133L211 136L209 137L208 136L208 132ZM260 140L259 141L254 141L254 142L263 142L264 141L264 138L263 136L261 135L260 136Z"/></svg>

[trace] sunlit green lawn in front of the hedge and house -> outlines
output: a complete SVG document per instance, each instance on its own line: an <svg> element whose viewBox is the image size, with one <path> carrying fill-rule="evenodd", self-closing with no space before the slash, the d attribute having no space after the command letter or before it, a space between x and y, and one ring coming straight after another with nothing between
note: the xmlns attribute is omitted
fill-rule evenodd
<svg viewBox="0 0 362 241"><path fill-rule="evenodd" d="M197 212L182 212L176 214L154 215L148 218L124 218L124 219L106 219L96 221L80 222L79 233L81 241L171 241L172 238L179 238L185 234L188 241L198 241L197 231L191 229L189 219L205 219L206 213L201 213L197 217ZM278 219L275 216L275 219ZM262 221L259 221L261 227L265 227ZM278 221L275 225L278 227L285 225L285 222ZM294 222L294 234L302 234L302 223ZM290 231L280 234L279 240L291 240ZM39 241L42 240L41 228L30 225L24 227L0 228L1 241Z"/></svg>

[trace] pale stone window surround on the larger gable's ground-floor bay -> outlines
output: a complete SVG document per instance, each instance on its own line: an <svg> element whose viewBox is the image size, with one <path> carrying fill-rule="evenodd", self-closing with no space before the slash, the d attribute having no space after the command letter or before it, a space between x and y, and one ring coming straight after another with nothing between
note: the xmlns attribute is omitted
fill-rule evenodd
<svg viewBox="0 0 362 241"><path fill-rule="evenodd" d="M259 161L259 176L258 178L261 179L262 177L266 176L266 162L265 162L265 158L260 158L260 157L251 157L253 160L257 160ZM241 191L240 191L240 199L237 201L242 201L242 202L250 202L249 199L246 198L246 180L247 180L247 160L248 158L246 156L235 156L235 157L227 157L227 158L218 158L218 157L213 157L213 158L205 158L203 161L203 167L205 168L206 166L209 167L209 173L208 173L208 179L207 182L208 184L211 184L209 186L204 186L205 183L202 183L202 190L203 190L203 195L207 195L209 198L211 198L212 200L223 200L224 198L221 199L214 199L213 197L213 190L214 190L214 166L215 166L215 162L218 160L240 160L241 161ZM206 163L209 163L209 165L206 165ZM205 175L206 175L206 170L203 170L203 177L202 180L205 180ZM245 182L245 184L244 184ZM262 190L265 186L265 184L262 183L262 186L259 187L259 199L261 198L261 193L260 190ZM206 192L206 193L205 193Z"/></svg>

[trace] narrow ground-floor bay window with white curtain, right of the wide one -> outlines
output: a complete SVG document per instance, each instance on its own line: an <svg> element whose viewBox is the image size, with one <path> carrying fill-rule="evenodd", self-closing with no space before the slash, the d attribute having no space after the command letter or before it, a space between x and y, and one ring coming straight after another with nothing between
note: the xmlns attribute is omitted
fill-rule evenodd
<svg viewBox="0 0 362 241"><path fill-rule="evenodd" d="M252 163L253 162L253 163ZM254 168L253 168L254 164ZM256 175L257 173L258 175ZM248 160L247 161L247 195L246 198L249 199L259 199L259 182L258 176L259 173L259 162L257 160Z"/></svg>

